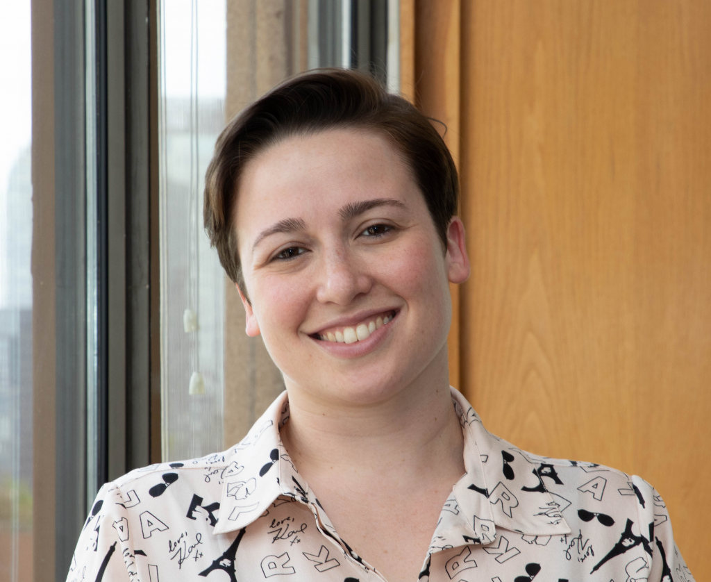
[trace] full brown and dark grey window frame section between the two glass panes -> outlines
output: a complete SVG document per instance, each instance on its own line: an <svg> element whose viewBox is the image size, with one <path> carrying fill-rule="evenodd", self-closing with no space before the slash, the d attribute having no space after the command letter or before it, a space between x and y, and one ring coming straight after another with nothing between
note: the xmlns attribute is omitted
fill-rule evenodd
<svg viewBox="0 0 711 582"><path fill-rule="evenodd" d="M33 563L63 581L97 488L160 460L155 0L31 11Z"/></svg>

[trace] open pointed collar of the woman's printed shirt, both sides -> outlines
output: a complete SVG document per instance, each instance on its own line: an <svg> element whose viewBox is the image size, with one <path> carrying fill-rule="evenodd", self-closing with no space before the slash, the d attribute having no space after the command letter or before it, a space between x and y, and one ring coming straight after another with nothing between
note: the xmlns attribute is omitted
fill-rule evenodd
<svg viewBox="0 0 711 582"><path fill-rule="evenodd" d="M550 477L545 472L550 465L489 433L456 388L451 388L451 398L464 432L466 474L442 508L429 553L465 544L492 544L497 527L531 536L530 543L536 536L570 534L562 517L570 502L548 492L542 480L542 474ZM272 504L295 501L309 506L324 534L338 539L279 438L279 427L288 420L289 400L284 391L232 448L222 475L215 534L247 527L267 514Z"/></svg>

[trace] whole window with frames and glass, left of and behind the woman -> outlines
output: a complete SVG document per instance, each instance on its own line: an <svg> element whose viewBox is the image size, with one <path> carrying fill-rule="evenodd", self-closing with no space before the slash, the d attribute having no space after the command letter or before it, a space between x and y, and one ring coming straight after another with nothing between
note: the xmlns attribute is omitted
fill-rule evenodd
<svg viewBox="0 0 711 582"><path fill-rule="evenodd" d="M397 88L394 16L395 0L4 7L0 582L63 581L106 480L235 443L283 390L203 233L205 166L289 75L357 66Z"/></svg>

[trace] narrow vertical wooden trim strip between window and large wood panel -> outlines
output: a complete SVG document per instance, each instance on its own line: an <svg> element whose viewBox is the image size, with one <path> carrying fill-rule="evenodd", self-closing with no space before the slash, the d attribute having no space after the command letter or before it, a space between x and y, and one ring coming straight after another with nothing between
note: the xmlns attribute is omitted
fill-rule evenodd
<svg viewBox="0 0 711 582"><path fill-rule="evenodd" d="M458 165L460 11L460 0L441 0L419 2L415 12L415 104L424 115L441 122L434 122L434 127ZM459 386L459 285L450 285L449 291L449 383Z"/></svg>

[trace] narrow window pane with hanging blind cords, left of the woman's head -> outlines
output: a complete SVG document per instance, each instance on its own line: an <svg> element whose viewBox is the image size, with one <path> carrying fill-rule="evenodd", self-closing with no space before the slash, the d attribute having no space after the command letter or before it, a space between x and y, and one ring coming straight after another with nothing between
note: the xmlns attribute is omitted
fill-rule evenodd
<svg viewBox="0 0 711 582"><path fill-rule="evenodd" d="M203 231L205 169L225 121L225 0L160 4L163 460L223 446L223 270Z"/></svg>

